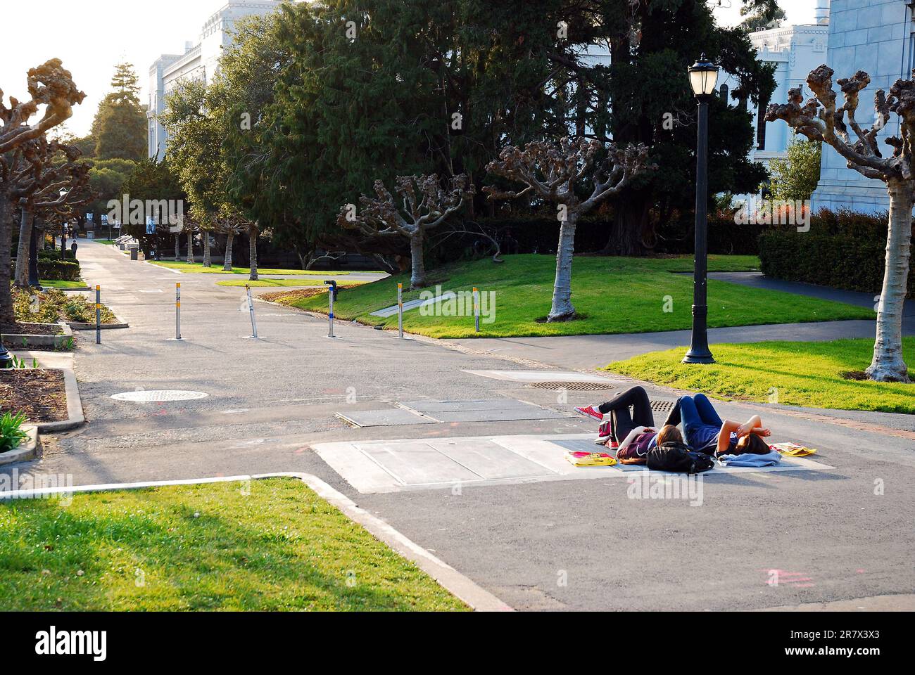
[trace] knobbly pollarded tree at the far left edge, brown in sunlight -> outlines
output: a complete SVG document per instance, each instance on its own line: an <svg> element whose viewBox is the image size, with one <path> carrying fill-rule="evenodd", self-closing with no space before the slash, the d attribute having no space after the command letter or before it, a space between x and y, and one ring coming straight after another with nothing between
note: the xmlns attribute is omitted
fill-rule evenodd
<svg viewBox="0 0 915 675"><path fill-rule="evenodd" d="M86 96L77 89L60 59L50 59L29 70L27 87L31 98L19 102L11 97L8 108L0 90L0 324L16 322L9 287L10 249L17 206L14 190L28 171L22 161L23 145L66 122L73 113L73 105L81 103ZM29 124L41 105L46 106L41 119Z"/></svg>

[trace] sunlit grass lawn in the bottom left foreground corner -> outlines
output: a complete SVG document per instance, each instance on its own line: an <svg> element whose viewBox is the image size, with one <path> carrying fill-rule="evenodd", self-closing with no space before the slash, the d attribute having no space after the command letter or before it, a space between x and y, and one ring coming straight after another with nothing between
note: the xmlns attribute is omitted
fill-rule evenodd
<svg viewBox="0 0 915 675"><path fill-rule="evenodd" d="M0 501L0 605L465 610L293 478Z"/></svg>

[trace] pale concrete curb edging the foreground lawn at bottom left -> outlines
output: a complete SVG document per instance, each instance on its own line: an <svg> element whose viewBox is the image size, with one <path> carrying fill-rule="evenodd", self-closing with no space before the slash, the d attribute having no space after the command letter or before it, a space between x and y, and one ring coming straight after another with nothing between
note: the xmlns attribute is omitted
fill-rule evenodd
<svg viewBox="0 0 915 675"><path fill-rule="evenodd" d="M50 495L72 495L77 492L104 492L107 490L129 490L144 488L159 488L174 485L199 485L207 483L232 483L243 480L260 480L263 478L298 478L315 491L318 497L326 500L328 504L339 509L353 522L360 524L377 540L387 544L393 552L399 553L411 563L415 563L423 572L427 573L436 582L452 595L464 601L478 612L513 612L514 610L502 602L498 597L480 587L456 569L442 562L432 553L426 551L419 544L407 539L399 531L380 518L373 516L365 509L361 509L352 499L343 495L327 483L311 474L298 472L285 472L275 474L259 474L256 476L228 476L216 478L190 478L187 480L157 480L141 483L109 483L104 485L87 485L79 487L44 488L34 490L11 490L0 492L0 499L35 498Z"/></svg>

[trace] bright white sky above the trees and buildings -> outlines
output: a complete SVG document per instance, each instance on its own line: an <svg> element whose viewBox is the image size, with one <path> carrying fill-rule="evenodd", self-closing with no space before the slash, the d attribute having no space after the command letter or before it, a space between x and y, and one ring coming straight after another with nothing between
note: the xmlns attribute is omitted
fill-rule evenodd
<svg viewBox="0 0 915 675"><path fill-rule="evenodd" d="M516 0L523 2L523 0ZM114 65L133 63L149 101L149 67L161 54L182 54L186 41L199 40L204 21L225 0L29 0L5 8L0 89L27 98L26 72L58 58L86 92L67 123L70 133L89 133L99 102L109 91ZM739 21L740 0L709 0L719 23ZM814 0L780 0L787 25L813 22ZM33 22L42 25L36 39Z"/></svg>

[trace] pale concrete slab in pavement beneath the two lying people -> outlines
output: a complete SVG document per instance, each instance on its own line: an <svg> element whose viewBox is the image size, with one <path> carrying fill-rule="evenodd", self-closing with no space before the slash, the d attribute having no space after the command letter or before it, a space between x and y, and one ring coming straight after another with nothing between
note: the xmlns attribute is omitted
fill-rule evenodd
<svg viewBox="0 0 915 675"><path fill-rule="evenodd" d="M580 447L578 444L581 444ZM430 441L343 442L312 445L315 452L362 494L411 489L486 487L512 483L593 478L633 479L679 476L645 466L572 466L569 449L594 452L591 434L478 436ZM782 460L780 466L716 466L702 476L768 474L832 469L806 458Z"/></svg>

